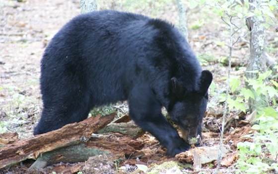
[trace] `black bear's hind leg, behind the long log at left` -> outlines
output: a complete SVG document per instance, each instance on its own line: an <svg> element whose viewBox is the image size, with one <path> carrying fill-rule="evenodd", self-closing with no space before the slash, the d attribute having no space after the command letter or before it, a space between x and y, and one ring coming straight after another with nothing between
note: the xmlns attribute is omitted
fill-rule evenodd
<svg viewBox="0 0 278 174"><path fill-rule="evenodd" d="M44 108L34 135L59 129L87 118L90 111L88 92L63 92L65 95L44 100Z"/></svg>

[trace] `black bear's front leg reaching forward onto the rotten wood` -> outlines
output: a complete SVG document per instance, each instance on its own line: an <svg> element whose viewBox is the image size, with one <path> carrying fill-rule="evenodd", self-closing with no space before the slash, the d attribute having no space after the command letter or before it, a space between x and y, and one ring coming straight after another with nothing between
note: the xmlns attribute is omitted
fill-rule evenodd
<svg viewBox="0 0 278 174"><path fill-rule="evenodd" d="M175 156L190 149L161 113L161 104L147 85L134 87L129 95L130 116L142 129L148 131L167 148L167 154Z"/></svg>

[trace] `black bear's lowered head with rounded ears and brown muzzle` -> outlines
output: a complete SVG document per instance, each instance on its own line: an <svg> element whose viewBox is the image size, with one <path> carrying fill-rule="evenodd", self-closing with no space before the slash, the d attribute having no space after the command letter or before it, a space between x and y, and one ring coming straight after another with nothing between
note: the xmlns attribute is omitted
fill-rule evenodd
<svg viewBox="0 0 278 174"><path fill-rule="evenodd" d="M197 137L198 129L201 129L211 82L212 74L208 70L202 71L194 90L188 90L175 77L171 79L171 102L167 110L171 119L180 127L186 142Z"/></svg>

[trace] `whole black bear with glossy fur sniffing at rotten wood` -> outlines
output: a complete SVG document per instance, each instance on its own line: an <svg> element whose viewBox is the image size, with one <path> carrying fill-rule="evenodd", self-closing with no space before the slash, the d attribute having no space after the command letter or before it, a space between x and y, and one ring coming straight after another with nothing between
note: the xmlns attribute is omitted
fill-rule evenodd
<svg viewBox="0 0 278 174"><path fill-rule="evenodd" d="M92 107L128 100L130 117L171 156L202 132L209 71L171 24L112 10L79 15L51 40L41 61L43 111L34 134L84 120ZM165 107L178 132L161 113Z"/></svg>

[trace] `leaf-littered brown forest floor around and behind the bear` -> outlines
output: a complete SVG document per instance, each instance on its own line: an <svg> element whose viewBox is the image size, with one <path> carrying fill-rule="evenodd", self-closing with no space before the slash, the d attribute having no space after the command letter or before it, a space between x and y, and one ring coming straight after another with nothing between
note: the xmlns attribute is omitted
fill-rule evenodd
<svg viewBox="0 0 278 174"><path fill-rule="evenodd" d="M173 24L178 21L177 5L172 0L164 0L164 7L153 3L149 6L134 5L133 7L117 4L114 0L102 1L99 8L113 8L128 10L156 18L166 19ZM103 5L103 6L101 6ZM163 6L163 5L162 5ZM192 49L201 59L204 69L213 72L214 89L210 92L208 111L204 118L204 146L213 147L219 143L219 128L224 112L223 102L219 102L219 95L225 91L227 76L226 64L223 58L228 56L226 24L218 16L202 14L201 9L188 11L189 42ZM0 133L17 133L18 139L32 137L41 111L42 101L39 89L40 60L46 45L54 34L72 17L80 13L79 0L2 0L0 4ZM203 19L202 21L199 19ZM273 42L278 34L267 31L267 41ZM238 36L237 36L238 37ZM236 38L236 37L235 37ZM242 77L249 56L247 39L239 39L233 51L232 76ZM277 49L276 49L277 50ZM273 58L278 57L277 51L270 51ZM125 107L126 108L126 107ZM224 142L229 152L224 156L228 161L220 167L219 174L233 174L236 171L237 159L236 143L246 141L242 138L250 133L250 125L242 120L245 113L231 110L228 114ZM228 136L230 135L230 136ZM232 136L231 136L232 135ZM165 156L166 150L150 134L146 133L135 141L142 143L139 150L144 153L137 159L122 157L121 162L109 161L104 156L96 156L84 162L91 169L81 170L83 173L141 173L136 164L142 164L149 169L154 165L166 164L166 167L157 167L156 173L205 173L215 172L215 161L202 166L202 169L193 171L192 165L178 168L171 162L176 158ZM216 153L216 152L215 152ZM0 174L25 174L33 163L27 160L4 169ZM113 163L114 165L108 165ZM176 164L176 163L175 163ZM80 164L55 164L38 171L38 173L61 173L66 168ZM165 165L164 165L165 166ZM121 171L125 167L125 172ZM120 168L120 169L119 169ZM127 169L129 169L127 172ZM157 172L159 171L159 172ZM152 171L153 172L153 171ZM34 171L32 173L35 173ZM153 172L155 173L155 172ZM79 173L80 174L80 173Z"/></svg>

